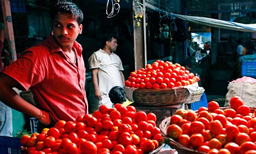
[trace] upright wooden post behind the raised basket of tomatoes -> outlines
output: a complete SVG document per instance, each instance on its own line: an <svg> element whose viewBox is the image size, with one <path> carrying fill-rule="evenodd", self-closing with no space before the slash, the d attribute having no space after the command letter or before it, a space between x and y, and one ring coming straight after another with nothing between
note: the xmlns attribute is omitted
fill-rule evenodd
<svg viewBox="0 0 256 154"><path fill-rule="evenodd" d="M137 0L137 2L142 3L143 0ZM133 5L138 3L133 1ZM144 15L143 15L144 16ZM138 17L140 18L140 17ZM144 39L143 39L143 24L142 19L140 21L141 25L137 26L137 20L133 15L133 40L134 40L134 61L135 61L135 70L140 68L145 68L145 53L144 53Z"/></svg>

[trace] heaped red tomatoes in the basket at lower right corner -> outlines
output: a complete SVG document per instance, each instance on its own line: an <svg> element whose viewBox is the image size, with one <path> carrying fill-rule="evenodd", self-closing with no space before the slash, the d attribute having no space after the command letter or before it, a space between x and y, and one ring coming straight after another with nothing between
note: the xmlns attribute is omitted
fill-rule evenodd
<svg viewBox="0 0 256 154"><path fill-rule="evenodd" d="M209 154L256 154L256 110L240 97L230 100L231 108L220 109L217 102L208 108L178 110L171 117L167 135L183 146Z"/></svg>

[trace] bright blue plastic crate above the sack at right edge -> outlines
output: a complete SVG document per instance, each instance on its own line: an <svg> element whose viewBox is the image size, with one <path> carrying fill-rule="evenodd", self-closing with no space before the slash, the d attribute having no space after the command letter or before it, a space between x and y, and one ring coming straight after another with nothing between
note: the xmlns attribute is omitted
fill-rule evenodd
<svg viewBox="0 0 256 154"><path fill-rule="evenodd" d="M256 61L242 61L243 76L256 76Z"/></svg>

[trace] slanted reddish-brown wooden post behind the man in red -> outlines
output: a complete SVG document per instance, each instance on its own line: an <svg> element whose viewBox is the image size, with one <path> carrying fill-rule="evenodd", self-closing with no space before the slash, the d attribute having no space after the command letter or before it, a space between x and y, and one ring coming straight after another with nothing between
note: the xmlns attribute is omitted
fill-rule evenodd
<svg viewBox="0 0 256 154"><path fill-rule="evenodd" d="M3 10L4 29L6 32L9 51L11 52L11 58L12 58L11 62L13 62L17 60L17 55L16 55L16 49L15 49L13 27L12 27L10 0L1 0L1 3L2 3L2 10Z"/></svg>

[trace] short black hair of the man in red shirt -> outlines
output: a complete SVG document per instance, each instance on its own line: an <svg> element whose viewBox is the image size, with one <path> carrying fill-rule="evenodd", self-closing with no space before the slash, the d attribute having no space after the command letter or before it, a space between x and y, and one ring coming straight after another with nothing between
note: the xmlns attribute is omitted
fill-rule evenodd
<svg viewBox="0 0 256 154"><path fill-rule="evenodd" d="M52 23L58 12L65 15L69 14L69 17L73 17L79 25L82 24L83 12L76 4L72 2L59 2L55 4L54 7L52 7L50 10Z"/></svg>

